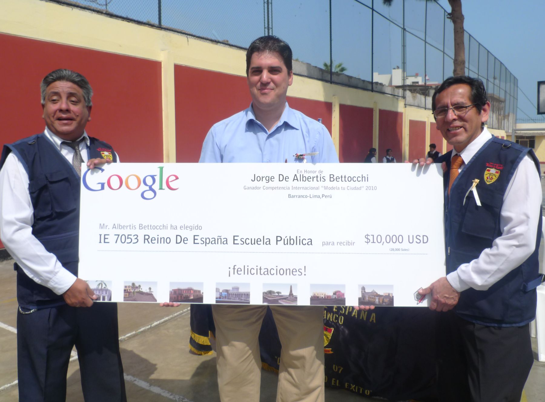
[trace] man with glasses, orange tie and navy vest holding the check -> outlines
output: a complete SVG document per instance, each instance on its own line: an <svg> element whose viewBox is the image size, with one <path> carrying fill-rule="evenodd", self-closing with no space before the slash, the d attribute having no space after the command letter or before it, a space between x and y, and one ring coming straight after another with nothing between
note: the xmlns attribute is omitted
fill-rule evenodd
<svg viewBox="0 0 545 402"><path fill-rule="evenodd" d="M447 78L432 110L454 147L435 161L446 165L447 275L421 290L431 294L429 308L444 312L440 400L519 402L534 361L529 322L542 281L539 162L531 149L483 126L490 103L479 79Z"/></svg>

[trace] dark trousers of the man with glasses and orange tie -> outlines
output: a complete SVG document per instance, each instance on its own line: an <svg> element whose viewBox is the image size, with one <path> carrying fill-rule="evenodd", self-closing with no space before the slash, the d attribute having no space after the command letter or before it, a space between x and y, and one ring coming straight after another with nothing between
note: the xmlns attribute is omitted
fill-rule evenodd
<svg viewBox="0 0 545 402"><path fill-rule="evenodd" d="M439 313L441 402L520 402L534 363L529 325L492 327Z"/></svg>

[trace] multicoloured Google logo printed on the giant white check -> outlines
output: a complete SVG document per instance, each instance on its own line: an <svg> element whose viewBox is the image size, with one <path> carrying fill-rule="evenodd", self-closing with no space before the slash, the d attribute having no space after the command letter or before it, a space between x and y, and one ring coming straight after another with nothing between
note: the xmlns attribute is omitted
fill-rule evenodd
<svg viewBox="0 0 545 402"><path fill-rule="evenodd" d="M111 176L108 176L106 181L101 181L96 184L99 185L98 188L91 188L87 182L87 174L89 173L90 169L87 169L85 173L83 173L82 181L83 181L83 187L87 188L89 191L102 191L105 190L106 186L110 188L110 190L116 191L122 188L123 186L128 188L128 190L138 190L140 186L146 187L146 190L143 190L140 196L145 200L154 199L157 196L157 192L155 191L155 184L159 184L158 190L165 190L165 187L168 188L168 190L178 190L177 187L172 187L171 183L173 181L176 181L179 179L179 177L175 174L168 175L165 180L163 180L163 168L164 166L159 166L159 181L156 179L158 176L157 174L148 174L144 176L143 178L140 178L137 174L129 174L126 176L125 179L122 178L119 174L112 174ZM95 169L99 169L100 173L104 172L104 169L100 167L95 167Z"/></svg>

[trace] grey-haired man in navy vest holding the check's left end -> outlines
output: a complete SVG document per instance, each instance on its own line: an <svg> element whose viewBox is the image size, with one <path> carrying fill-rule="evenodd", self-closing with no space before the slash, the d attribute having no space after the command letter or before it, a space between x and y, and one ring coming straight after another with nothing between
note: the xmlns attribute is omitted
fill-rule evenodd
<svg viewBox="0 0 545 402"><path fill-rule="evenodd" d="M17 271L17 370L21 401L64 401L74 345L83 395L126 401L117 304L77 278L81 163L117 162L85 132L93 90L81 74L55 70L41 82L43 133L4 145L0 233Z"/></svg>

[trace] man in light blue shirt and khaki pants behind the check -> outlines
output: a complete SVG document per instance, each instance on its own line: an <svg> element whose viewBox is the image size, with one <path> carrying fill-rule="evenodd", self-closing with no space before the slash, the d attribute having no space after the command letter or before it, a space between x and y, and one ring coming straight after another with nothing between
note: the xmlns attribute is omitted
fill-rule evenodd
<svg viewBox="0 0 545 402"><path fill-rule="evenodd" d="M246 75L250 107L210 129L199 162L338 163L328 130L286 102L293 81L286 42L276 36L253 41ZM282 344L276 400L323 402L323 307L270 307ZM258 335L267 306L215 304L212 310L221 401L255 402L261 382Z"/></svg>

